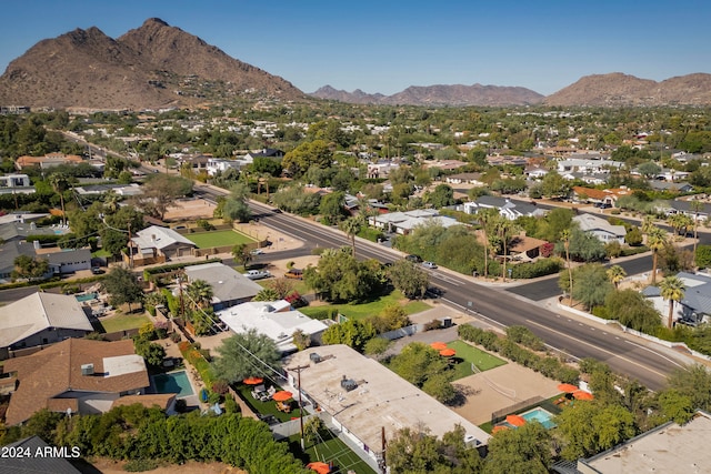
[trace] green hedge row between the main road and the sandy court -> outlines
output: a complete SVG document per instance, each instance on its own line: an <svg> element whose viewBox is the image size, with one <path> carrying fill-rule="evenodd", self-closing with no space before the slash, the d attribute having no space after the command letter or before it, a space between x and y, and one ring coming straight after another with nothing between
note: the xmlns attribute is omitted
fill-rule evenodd
<svg viewBox="0 0 711 474"><path fill-rule="evenodd" d="M575 383L580 372L563 364L551 355L540 355L533 351L521 347L509 337L500 337L497 333L463 324L458 327L458 334L464 341L470 341L483 346L488 351L497 352L502 356L540 372L549 379L564 383Z"/></svg>

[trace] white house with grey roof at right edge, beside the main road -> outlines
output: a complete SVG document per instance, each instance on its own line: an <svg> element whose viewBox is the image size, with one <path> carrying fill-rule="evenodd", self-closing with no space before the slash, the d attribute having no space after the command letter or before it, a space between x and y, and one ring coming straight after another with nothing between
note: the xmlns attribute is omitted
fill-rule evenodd
<svg viewBox="0 0 711 474"><path fill-rule="evenodd" d="M711 275L680 272L677 274L684 284L684 297L674 304L672 319L682 324L695 326L711 323ZM665 323L669 316L669 301L662 299L659 286L647 286L642 294L662 314Z"/></svg>

